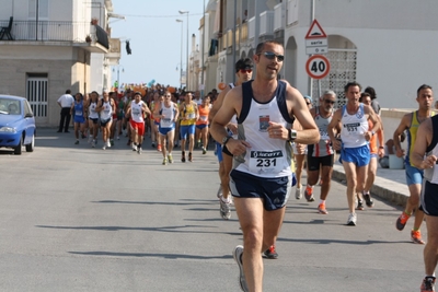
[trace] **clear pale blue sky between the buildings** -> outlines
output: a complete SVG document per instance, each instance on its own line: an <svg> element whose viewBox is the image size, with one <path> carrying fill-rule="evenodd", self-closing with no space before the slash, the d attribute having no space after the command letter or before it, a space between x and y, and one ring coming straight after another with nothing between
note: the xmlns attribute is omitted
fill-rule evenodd
<svg viewBox="0 0 438 292"><path fill-rule="evenodd" d="M185 68L187 15L180 14L178 10L189 11L189 46L192 34L196 35L196 43L199 44L204 1L208 3L208 0L113 0L113 13L124 15L126 20L110 19L112 37L123 42L119 67L113 67L112 84L117 80L118 69L120 84L155 80L161 84L180 86L181 25ZM183 20L183 24L176 22L177 19ZM131 55L126 54L125 39L129 39Z"/></svg>

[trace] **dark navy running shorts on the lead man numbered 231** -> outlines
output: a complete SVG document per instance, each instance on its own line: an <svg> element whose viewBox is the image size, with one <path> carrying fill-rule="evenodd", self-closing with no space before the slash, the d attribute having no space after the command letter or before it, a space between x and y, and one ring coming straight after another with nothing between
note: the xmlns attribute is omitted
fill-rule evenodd
<svg viewBox="0 0 438 292"><path fill-rule="evenodd" d="M291 188L291 176L266 178L232 170L230 178L230 190L233 197L261 198L266 211L286 206Z"/></svg>

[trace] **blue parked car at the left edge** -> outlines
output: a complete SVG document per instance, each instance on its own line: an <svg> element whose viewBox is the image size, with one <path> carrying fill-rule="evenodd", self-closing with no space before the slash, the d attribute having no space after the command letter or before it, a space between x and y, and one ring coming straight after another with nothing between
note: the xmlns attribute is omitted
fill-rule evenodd
<svg viewBox="0 0 438 292"><path fill-rule="evenodd" d="M12 148L21 154L23 145L27 152L35 148L35 118L31 105L24 97L0 95L0 148Z"/></svg>

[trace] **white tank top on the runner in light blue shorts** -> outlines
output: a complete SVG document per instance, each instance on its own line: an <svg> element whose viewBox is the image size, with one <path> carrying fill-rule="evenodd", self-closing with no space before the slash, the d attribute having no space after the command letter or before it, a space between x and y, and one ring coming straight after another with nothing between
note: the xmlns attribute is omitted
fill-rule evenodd
<svg viewBox="0 0 438 292"><path fill-rule="evenodd" d="M341 139L344 148L358 148L368 144L364 136L368 131L368 120L364 113L364 104L360 104L356 114L353 115L348 114L344 105L341 122Z"/></svg>

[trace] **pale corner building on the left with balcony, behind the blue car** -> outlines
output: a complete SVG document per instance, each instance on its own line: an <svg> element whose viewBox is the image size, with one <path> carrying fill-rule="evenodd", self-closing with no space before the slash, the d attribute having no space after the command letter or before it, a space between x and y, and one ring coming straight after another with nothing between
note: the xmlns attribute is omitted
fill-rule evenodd
<svg viewBox="0 0 438 292"><path fill-rule="evenodd" d="M107 65L120 57L119 40L108 34L111 0L1 4L0 26L8 26L12 17L12 39L0 39L0 92L26 97L37 125L58 125L57 100L66 90L84 94L110 87Z"/></svg>

